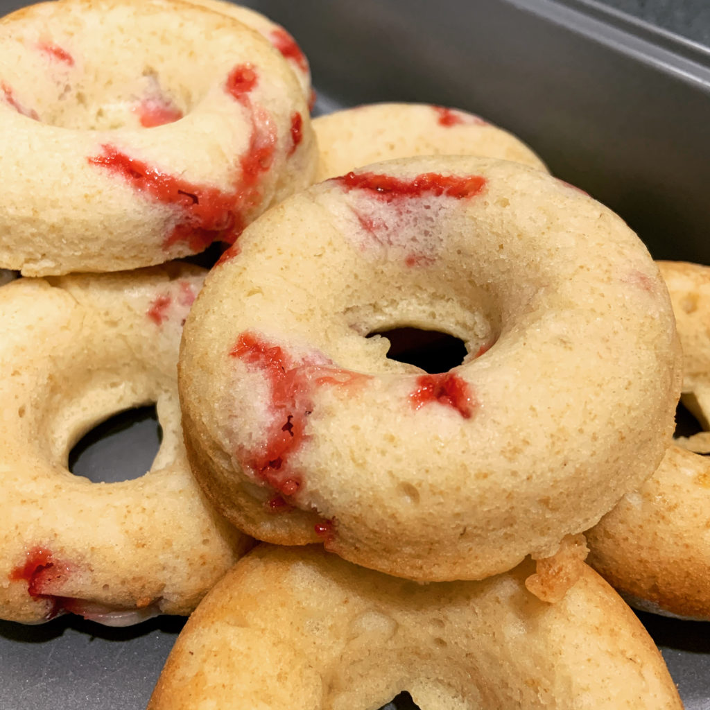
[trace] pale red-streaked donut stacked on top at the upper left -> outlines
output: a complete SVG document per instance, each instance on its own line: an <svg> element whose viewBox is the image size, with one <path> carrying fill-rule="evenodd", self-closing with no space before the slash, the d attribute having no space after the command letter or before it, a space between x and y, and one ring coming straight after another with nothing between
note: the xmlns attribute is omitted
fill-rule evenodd
<svg viewBox="0 0 710 710"><path fill-rule="evenodd" d="M288 62L224 14L40 3L0 20L0 66L0 267L23 275L120 271L234 241L315 173Z"/></svg>

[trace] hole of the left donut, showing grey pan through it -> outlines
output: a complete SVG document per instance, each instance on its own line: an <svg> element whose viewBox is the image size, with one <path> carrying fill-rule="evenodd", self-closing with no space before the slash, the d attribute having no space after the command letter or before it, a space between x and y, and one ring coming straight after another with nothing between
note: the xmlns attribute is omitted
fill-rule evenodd
<svg viewBox="0 0 710 710"><path fill-rule="evenodd" d="M123 410L100 422L72 447L68 468L94 483L138 479L163 442L155 405Z"/></svg>

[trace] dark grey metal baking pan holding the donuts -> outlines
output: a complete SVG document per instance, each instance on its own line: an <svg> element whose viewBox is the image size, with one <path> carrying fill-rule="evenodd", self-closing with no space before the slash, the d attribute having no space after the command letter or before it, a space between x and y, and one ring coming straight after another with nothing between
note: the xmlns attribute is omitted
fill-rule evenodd
<svg viewBox="0 0 710 710"><path fill-rule="evenodd" d="M0 0L0 11L23 4ZM586 0L244 4L302 45L317 112L376 101L474 111L621 214L656 258L710 263L709 50ZM158 447L145 411L93 439L73 469L95 480L145 471ZM710 623L640 618L687 709L710 710ZM0 622L0 709L143 708L181 627Z"/></svg>

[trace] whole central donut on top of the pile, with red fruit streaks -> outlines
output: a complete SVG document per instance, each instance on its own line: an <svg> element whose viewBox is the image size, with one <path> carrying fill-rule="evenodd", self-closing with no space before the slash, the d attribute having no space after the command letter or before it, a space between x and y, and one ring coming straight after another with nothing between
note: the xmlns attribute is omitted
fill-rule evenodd
<svg viewBox="0 0 710 710"><path fill-rule="evenodd" d="M388 359L367 336L397 327L466 358ZM681 356L657 266L613 212L540 170L447 156L269 210L210 272L178 371L188 457L237 527L442 581L549 557L638 488Z"/></svg>

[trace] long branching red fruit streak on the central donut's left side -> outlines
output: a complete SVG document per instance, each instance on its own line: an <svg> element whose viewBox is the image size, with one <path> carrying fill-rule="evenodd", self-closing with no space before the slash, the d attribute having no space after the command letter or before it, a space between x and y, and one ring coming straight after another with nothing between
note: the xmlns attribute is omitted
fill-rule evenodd
<svg viewBox="0 0 710 710"><path fill-rule="evenodd" d="M282 347L251 332L239 336L230 355L259 371L271 388L272 422L263 443L247 452L242 463L281 496L293 496L302 476L291 470L290 458L307 437L313 391L323 385L348 386L364 376L331 367L322 357L295 363Z"/></svg>

